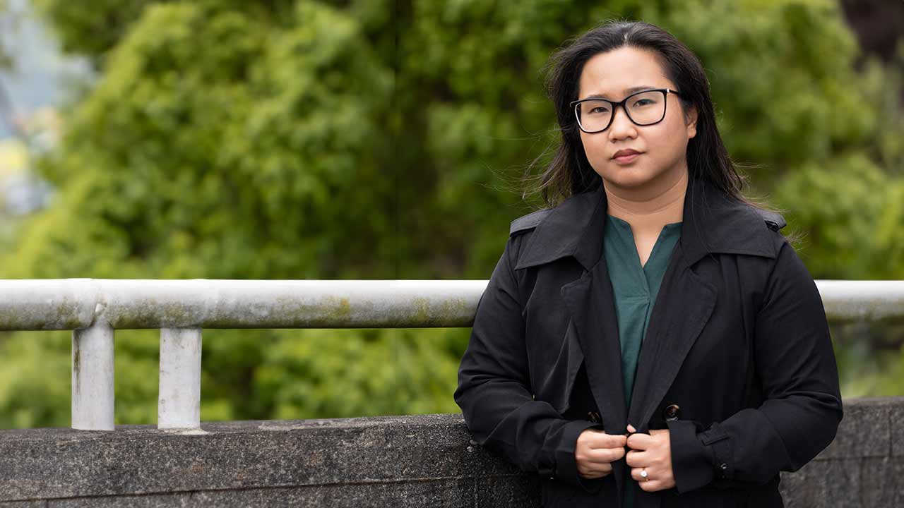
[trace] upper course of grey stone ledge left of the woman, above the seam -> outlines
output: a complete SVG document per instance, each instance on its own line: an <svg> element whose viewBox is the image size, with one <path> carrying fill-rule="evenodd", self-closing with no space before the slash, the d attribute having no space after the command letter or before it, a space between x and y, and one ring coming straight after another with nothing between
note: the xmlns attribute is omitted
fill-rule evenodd
<svg viewBox="0 0 904 508"><path fill-rule="evenodd" d="M0 501L522 476L469 440L460 414L11 430Z"/></svg>

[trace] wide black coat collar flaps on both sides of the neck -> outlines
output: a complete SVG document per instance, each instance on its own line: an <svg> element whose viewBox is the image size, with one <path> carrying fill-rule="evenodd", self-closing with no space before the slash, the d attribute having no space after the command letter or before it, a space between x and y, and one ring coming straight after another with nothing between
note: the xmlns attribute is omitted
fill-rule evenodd
<svg viewBox="0 0 904 508"><path fill-rule="evenodd" d="M603 185L579 193L548 209L537 224L515 269L572 256L587 270L597 264L603 249L607 197ZM775 212L731 200L711 183L688 182L681 228L683 262L691 266L707 254L752 254L775 258L776 247L767 227L780 229L785 220Z"/></svg>

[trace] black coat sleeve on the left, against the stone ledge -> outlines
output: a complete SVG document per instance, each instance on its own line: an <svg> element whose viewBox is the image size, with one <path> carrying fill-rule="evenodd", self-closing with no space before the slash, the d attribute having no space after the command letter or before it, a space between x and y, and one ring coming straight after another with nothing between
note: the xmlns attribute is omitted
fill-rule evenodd
<svg viewBox="0 0 904 508"><path fill-rule="evenodd" d="M580 433L598 425L563 419L551 404L533 399L513 272L523 236L510 237L480 297L454 397L482 447L502 453L523 471L596 492L601 478L579 477L574 452Z"/></svg>

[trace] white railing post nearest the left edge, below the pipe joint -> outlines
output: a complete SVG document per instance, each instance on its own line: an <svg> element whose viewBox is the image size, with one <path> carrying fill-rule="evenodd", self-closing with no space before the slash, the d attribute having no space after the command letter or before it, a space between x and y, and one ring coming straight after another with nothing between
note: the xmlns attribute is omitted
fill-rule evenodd
<svg viewBox="0 0 904 508"><path fill-rule="evenodd" d="M113 328L72 331L72 428L113 430Z"/></svg>

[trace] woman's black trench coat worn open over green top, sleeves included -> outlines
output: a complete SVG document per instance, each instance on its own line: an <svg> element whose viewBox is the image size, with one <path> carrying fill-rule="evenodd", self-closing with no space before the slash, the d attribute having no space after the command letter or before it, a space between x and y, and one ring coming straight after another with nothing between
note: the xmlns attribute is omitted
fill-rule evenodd
<svg viewBox="0 0 904 508"><path fill-rule="evenodd" d="M822 299L776 213L691 180L681 239L655 300L630 410L603 257L606 193L512 222L458 370L476 441L536 472L543 506L618 506L613 474L578 475L586 428L668 428L675 487L636 508L783 506L779 471L832 442L842 419Z"/></svg>

